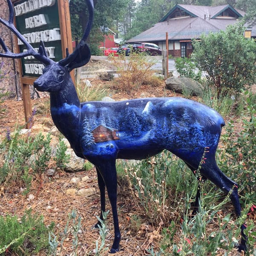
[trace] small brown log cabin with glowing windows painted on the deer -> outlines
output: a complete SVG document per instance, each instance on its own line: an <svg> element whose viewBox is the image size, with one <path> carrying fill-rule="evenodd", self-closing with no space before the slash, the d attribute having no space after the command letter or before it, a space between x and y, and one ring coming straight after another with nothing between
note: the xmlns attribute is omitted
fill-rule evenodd
<svg viewBox="0 0 256 256"><path fill-rule="evenodd" d="M99 125L94 128L91 133L93 134L94 142L105 142L110 140L119 140L118 130L107 127L105 125Z"/></svg>

